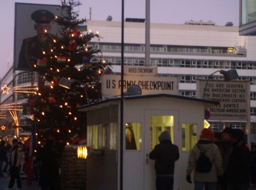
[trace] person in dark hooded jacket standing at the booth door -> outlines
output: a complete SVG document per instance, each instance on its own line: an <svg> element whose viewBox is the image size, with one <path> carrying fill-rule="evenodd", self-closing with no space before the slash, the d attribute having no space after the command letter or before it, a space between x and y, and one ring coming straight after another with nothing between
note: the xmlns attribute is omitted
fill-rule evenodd
<svg viewBox="0 0 256 190"><path fill-rule="evenodd" d="M179 159L179 149L178 146L171 143L171 136L168 131L163 131L158 139L160 144L157 144L149 154L149 158L155 160L156 187L157 190L172 190L174 163Z"/></svg>

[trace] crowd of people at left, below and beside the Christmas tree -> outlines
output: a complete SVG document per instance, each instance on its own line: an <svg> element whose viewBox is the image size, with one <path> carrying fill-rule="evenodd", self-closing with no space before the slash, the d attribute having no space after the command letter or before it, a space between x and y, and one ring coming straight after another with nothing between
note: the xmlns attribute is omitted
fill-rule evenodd
<svg viewBox="0 0 256 190"><path fill-rule="evenodd" d="M30 143L22 143L17 139L13 139L12 144L6 145L6 142L2 140L0 146L0 175L4 177L3 172L5 172L10 176L9 186L6 189L12 189L15 181L17 181L18 189L22 189L21 172L27 174L28 180L29 168L33 170L33 176L31 176L30 180L39 180L38 184L42 190L59 189L60 155L63 150L63 144L61 146L59 143L54 142L54 138L49 137L44 146L38 147L37 154L29 162ZM54 147L54 144L59 147Z"/></svg>

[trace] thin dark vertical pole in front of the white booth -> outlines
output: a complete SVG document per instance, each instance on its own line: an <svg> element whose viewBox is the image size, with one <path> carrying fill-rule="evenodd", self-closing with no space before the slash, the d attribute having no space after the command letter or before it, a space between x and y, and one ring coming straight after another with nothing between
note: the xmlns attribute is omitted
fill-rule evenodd
<svg viewBox="0 0 256 190"><path fill-rule="evenodd" d="M122 0L122 32L121 32L121 105L120 105L120 188L123 189L123 52L125 31L125 0Z"/></svg>

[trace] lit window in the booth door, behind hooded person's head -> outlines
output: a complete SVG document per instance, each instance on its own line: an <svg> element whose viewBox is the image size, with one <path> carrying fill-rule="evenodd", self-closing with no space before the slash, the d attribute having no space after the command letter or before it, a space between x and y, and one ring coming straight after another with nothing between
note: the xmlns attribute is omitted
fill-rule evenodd
<svg viewBox="0 0 256 190"><path fill-rule="evenodd" d="M174 143L174 117L173 115L151 115L150 116L150 151L159 144L158 137L163 131L171 135L171 142Z"/></svg>

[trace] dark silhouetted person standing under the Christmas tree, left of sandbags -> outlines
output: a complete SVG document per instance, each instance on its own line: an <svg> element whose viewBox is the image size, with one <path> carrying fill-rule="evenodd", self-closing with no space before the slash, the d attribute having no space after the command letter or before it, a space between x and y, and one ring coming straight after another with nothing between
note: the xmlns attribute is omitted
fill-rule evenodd
<svg viewBox="0 0 256 190"><path fill-rule="evenodd" d="M41 162L39 185L42 190L57 190L59 185L59 155L53 148L54 139L49 138L38 152Z"/></svg>

